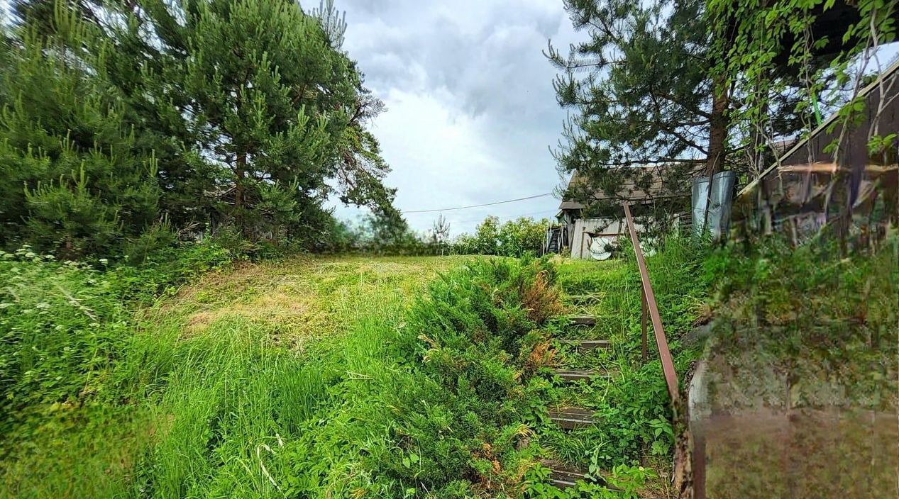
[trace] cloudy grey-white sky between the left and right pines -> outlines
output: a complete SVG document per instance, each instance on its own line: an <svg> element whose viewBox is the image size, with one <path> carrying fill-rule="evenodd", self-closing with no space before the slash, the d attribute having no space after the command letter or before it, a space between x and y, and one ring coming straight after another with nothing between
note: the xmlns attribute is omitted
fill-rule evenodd
<svg viewBox="0 0 899 499"><path fill-rule="evenodd" d="M318 0L303 0L307 10ZM551 192L560 179L547 147L565 119L556 70L541 50L575 33L562 0L336 0L343 48L387 104L372 131L404 211L467 206ZM487 214L553 216L555 197L447 211L452 235ZM343 207L337 214L354 218ZM406 214L419 231L437 213Z"/></svg>

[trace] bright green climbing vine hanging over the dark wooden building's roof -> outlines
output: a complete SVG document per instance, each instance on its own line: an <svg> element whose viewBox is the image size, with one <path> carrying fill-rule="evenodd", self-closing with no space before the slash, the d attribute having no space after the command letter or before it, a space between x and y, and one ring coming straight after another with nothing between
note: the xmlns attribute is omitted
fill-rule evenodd
<svg viewBox="0 0 899 499"><path fill-rule="evenodd" d="M886 69L877 54L895 39L899 4L882 0L762 4L709 0L707 4L712 45L723 55L711 67L712 73L744 96L730 120L734 136L753 150L749 156L753 174L774 162L772 153L780 153L773 141L797 133L807 136L821 126L820 109L835 116L828 134L842 130L824 153L837 158L838 149L850 146L845 132L865 118L872 122L868 136L877 143L876 123L884 103L868 112L859 91L873 70ZM780 109L780 116L772 116L772 109ZM888 163L892 161L888 151L877 149L871 157Z"/></svg>

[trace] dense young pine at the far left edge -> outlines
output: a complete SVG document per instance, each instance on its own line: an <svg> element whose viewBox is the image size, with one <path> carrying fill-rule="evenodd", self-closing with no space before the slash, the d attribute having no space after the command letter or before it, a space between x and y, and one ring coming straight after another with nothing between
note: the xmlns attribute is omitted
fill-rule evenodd
<svg viewBox="0 0 899 499"><path fill-rule="evenodd" d="M109 254L157 221L156 158L102 61L74 49L92 42L85 24L60 9L52 26L11 32L0 59L0 244Z"/></svg>

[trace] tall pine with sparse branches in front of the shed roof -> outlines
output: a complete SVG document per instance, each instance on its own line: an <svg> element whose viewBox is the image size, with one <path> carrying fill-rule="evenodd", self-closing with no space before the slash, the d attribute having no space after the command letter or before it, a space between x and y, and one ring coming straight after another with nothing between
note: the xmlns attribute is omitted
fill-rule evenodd
<svg viewBox="0 0 899 499"><path fill-rule="evenodd" d="M565 0L575 28L590 36L567 54L551 44L547 51L564 72L557 100L575 111L556 152L560 171L581 179L574 197L628 197L624 186L645 190L659 177L681 189L702 164L707 174L722 169L727 93L709 77L703 7L702 0ZM659 165L668 168L634 168Z"/></svg>

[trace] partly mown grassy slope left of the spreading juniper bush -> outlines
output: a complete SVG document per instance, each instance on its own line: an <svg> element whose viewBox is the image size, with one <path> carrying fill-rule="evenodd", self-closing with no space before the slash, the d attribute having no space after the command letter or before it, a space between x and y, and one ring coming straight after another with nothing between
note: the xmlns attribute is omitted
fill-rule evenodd
<svg viewBox="0 0 899 499"><path fill-rule="evenodd" d="M0 496L351 496L402 390L408 303L465 258L295 258L203 277L138 311L93 401L54 405ZM399 383L399 384L397 384Z"/></svg>

